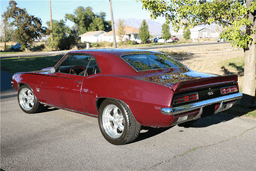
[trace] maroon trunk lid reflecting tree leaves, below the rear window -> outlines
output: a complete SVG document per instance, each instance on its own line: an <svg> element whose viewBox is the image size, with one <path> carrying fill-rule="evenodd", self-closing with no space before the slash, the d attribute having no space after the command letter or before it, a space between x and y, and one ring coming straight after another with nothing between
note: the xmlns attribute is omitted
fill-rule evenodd
<svg viewBox="0 0 256 171"><path fill-rule="evenodd" d="M138 80L148 81L156 84L160 84L166 87L175 86L177 83L191 80L198 80L202 78L217 77L218 75L195 72L192 70L177 69L169 72L155 72L144 74L136 77Z"/></svg>

